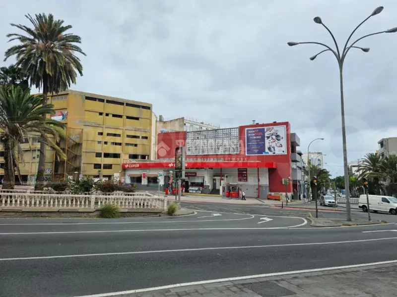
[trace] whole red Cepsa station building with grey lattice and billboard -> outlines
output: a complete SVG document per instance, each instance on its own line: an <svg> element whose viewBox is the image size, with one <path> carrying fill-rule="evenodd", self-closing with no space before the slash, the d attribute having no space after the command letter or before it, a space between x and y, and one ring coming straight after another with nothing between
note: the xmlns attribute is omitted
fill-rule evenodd
<svg viewBox="0 0 397 297"><path fill-rule="evenodd" d="M172 179L175 149L185 147L183 185L188 192L222 195L225 185L237 185L247 197L293 196L299 182L293 179L292 160L297 157L292 151L298 145L288 122L159 133L157 160L126 159L124 176L126 183L157 188L159 182L164 189ZM283 179L289 181L287 185Z"/></svg>

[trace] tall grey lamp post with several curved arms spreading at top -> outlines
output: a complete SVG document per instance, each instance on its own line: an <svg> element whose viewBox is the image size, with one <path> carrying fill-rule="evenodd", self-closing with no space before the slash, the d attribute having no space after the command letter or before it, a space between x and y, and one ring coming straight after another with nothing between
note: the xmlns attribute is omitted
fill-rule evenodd
<svg viewBox="0 0 397 297"><path fill-rule="evenodd" d="M360 48L356 47L355 44L359 42L360 40L372 36L372 35L377 35L377 34L382 34L382 33L396 33L397 32L397 27L386 30L386 31L381 31L381 32L376 32L372 34L367 34L364 35L363 37L360 37L356 41L352 42L350 45L350 39L353 36L353 34L357 31L357 29L364 24L370 17L377 15L381 13L383 10L383 6L377 7L365 20L363 20L354 30L351 32L349 37L347 38L347 41L343 47L343 50L339 50L338 44L336 42L335 37L333 36L331 30L324 25L322 19L319 16L316 16L313 20L317 24L323 25L324 28L330 33L333 43L335 45L336 49L332 49L330 46L320 43L320 42L288 42L288 46L293 47L297 46L300 44L314 44L314 45L320 45L325 47L326 49L320 51L319 53L315 54L314 56L310 57L310 60L314 60L319 54L325 52L325 51L331 51L333 55L336 57L336 60L339 65L339 83L340 83L340 111L342 115L342 147L343 147L343 167L344 167L344 182L345 182L345 189L346 189L346 214L347 214L347 221L351 221L351 210L350 210L350 194L349 194L349 175L348 175L348 168L347 168L347 149L346 149L346 127L345 127L345 119L344 119L344 99L343 99L343 63L346 58L346 54L349 52L350 49L361 49L364 52L368 52L369 48Z"/></svg>

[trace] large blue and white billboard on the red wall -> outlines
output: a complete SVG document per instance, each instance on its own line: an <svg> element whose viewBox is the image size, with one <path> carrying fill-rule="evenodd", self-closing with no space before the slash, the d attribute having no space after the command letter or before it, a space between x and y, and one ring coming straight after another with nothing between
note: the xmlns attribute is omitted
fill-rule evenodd
<svg viewBox="0 0 397 297"><path fill-rule="evenodd" d="M245 129L246 155L286 154L285 126Z"/></svg>

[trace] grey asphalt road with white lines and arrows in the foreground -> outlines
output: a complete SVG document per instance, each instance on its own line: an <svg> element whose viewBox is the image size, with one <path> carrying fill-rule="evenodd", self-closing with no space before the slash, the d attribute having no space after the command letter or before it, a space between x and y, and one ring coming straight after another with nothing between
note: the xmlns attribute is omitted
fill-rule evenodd
<svg viewBox="0 0 397 297"><path fill-rule="evenodd" d="M184 205L197 212L116 220L0 219L0 296L80 297L396 259L394 223L312 228L299 211Z"/></svg>

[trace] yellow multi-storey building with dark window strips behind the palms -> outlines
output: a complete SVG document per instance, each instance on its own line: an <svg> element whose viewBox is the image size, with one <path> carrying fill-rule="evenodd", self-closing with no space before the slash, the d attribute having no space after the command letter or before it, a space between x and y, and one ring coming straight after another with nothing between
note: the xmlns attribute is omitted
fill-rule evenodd
<svg viewBox="0 0 397 297"><path fill-rule="evenodd" d="M77 178L80 174L112 178L121 173L123 159L151 159L156 117L150 103L72 90L49 96L49 103L56 111L51 117L66 124L66 140L59 146L67 158L61 160L47 148L47 178ZM22 144L20 170L26 184L34 183L39 147L35 137ZM3 163L0 151L0 177Z"/></svg>

